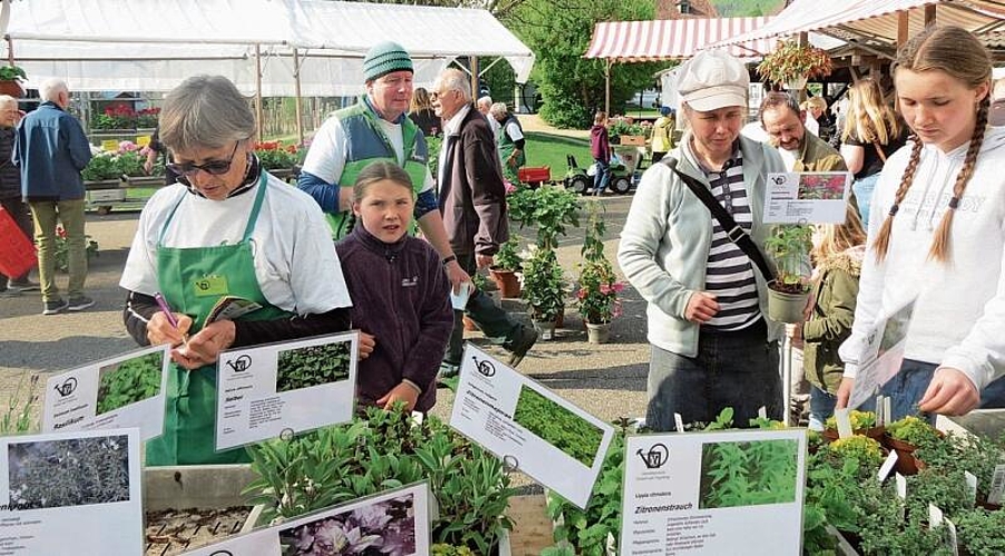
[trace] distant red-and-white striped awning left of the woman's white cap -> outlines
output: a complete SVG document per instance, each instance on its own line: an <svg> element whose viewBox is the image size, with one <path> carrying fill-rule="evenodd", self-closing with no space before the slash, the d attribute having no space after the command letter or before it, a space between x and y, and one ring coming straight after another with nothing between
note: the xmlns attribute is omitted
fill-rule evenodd
<svg viewBox="0 0 1005 556"><path fill-rule="evenodd" d="M619 61L658 61L690 58L698 50L755 31L771 18L666 19L597 23L584 58ZM759 58L775 48L767 38L729 47L738 58Z"/></svg>

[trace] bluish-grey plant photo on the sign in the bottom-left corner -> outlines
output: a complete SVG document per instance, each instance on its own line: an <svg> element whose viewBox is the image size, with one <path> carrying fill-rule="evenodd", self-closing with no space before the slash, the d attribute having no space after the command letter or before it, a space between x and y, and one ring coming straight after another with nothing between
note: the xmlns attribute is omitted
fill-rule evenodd
<svg viewBox="0 0 1005 556"><path fill-rule="evenodd" d="M129 500L129 437L11 443L8 496L20 509Z"/></svg>

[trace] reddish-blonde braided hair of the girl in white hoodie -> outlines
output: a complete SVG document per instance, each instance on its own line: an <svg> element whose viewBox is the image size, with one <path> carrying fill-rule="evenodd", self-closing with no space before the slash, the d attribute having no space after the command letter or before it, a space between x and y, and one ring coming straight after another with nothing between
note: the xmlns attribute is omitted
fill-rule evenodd
<svg viewBox="0 0 1005 556"><path fill-rule="evenodd" d="M918 73L927 71L942 71L947 76L963 82L970 90L983 85L991 87L992 61L991 54L981 44L981 41L969 32L958 27L929 27L923 33L910 39L897 52L894 62L894 71L901 69ZM896 75L896 73L895 73ZM953 227L953 215L959 206L959 199L966 189L970 176L974 175L974 166L977 163L977 153L981 143L984 142L984 132L987 130L987 113L991 108L991 96L985 95L975 107L974 132L970 136L970 145L959 173L956 175L956 183L953 186L953 196L949 198L949 207L943 215L942 221L935 231L928 257L940 262L949 259L949 229ZM883 220L883 227L876 235L873 247L876 249L876 260L886 258L889 250L890 230L894 217L900 208L900 202L907 196L914 181L915 171L922 158L922 141L912 138L914 145L910 149L910 159L904 176L900 178L900 187L894 198L890 211Z"/></svg>

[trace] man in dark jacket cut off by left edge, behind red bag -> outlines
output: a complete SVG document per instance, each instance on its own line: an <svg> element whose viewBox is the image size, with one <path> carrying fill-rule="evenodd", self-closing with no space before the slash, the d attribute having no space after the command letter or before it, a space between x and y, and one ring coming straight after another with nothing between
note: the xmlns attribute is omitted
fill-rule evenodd
<svg viewBox="0 0 1005 556"><path fill-rule="evenodd" d="M18 228L31 237L31 212L21 200L21 173L10 160L14 148L14 127L21 120L18 99L0 95L0 206L18 224ZM0 297L20 296L22 291L32 291L38 284L23 276L3 276L0 274Z"/></svg>

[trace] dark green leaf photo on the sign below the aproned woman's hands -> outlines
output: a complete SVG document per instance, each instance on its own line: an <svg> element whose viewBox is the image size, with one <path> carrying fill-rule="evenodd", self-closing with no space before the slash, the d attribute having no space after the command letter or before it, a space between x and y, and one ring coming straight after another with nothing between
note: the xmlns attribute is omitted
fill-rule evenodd
<svg viewBox="0 0 1005 556"><path fill-rule="evenodd" d="M352 340L279 351L276 391L299 390L349 377Z"/></svg>

